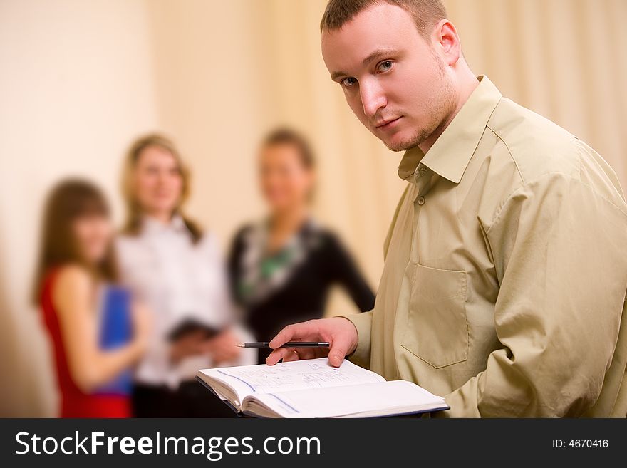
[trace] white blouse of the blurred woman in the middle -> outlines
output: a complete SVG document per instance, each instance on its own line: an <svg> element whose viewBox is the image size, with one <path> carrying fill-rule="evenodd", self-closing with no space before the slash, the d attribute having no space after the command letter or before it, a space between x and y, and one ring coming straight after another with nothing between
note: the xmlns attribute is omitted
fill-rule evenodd
<svg viewBox="0 0 627 468"><path fill-rule="evenodd" d="M209 356L192 356L177 364L170 361L167 335L186 318L221 328L234 322L227 276L217 241L210 233L193 244L180 216L169 225L145 217L137 236L118 236L115 243L123 284L153 314L152 338L135 373L135 380L149 385L177 388L182 380L194 378L196 371L212 367ZM242 341L252 335L236 325ZM257 363L257 353L242 350L237 362Z"/></svg>

